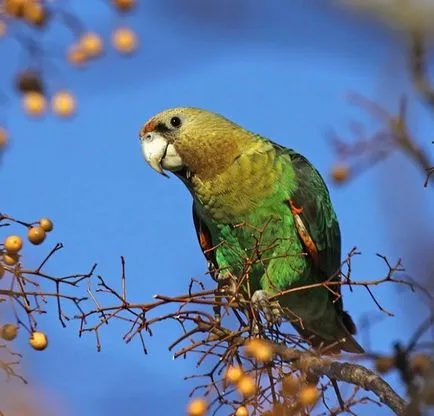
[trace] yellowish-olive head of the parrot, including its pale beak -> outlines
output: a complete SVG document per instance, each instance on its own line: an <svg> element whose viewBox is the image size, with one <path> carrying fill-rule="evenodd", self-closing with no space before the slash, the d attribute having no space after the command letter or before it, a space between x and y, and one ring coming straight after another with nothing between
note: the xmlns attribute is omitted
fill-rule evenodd
<svg viewBox="0 0 434 416"><path fill-rule="evenodd" d="M212 177L242 152L249 133L206 110L180 107L163 111L140 130L146 162L157 172Z"/></svg>

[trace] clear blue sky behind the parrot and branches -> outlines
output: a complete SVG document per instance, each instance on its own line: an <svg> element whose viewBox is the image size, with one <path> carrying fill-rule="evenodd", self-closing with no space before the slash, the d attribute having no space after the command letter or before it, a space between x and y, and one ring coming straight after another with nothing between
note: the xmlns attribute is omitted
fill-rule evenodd
<svg viewBox="0 0 434 416"><path fill-rule="evenodd" d="M219 112L295 148L318 167L330 184L343 252L353 246L363 252L354 264L355 278L384 274L376 252L404 257L419 277L429 270L429 259L417 247L420 241L432 243L432 224L423 219L434 199L406 158L393 157L346 187L333 186L328 177L334 155L326 133L335 129L349 136L352 119L366 122L368 131L375 127L345 95L361 92L394 109L400 93L409 91L398 37L306 0L291 5L283 0L237 5L159 0L141 4L121 21L99 2L71 1L71 6L105 39L114 25L131 25L140 36L140 52L124 59L108 51L80 71L53 61L49 88L71 89L78 99L72 122L51 115L31 120L12 95L1 210L24 220L48 216L55 223L47 244L24 250L29 265L49 244L61 241L65 249L49 266L51 272L85 272L97 262L99 273L117 284L124 255L129 293L138 302L151 301L155 293L184 293L190 277L205 272L189 194L175 178L166 180L145 164L137 138L153 114L187 105ZM60 45L72 40L59 27L43 37L60 58ZM0 68L0 88L12 94L11 76L24 65L23 58L11 41L0 48L10 57ZM429 113L417 102L411 102L410 113L416 136L431 150ZM389 351L392 342L408 338L426 310L392 285L375 292L396 316L371 329L371 348ZM344 301L358 323L367 313L381 316L362 290L346 293ZM192 387L183 376L194 369L189 360L173 361L167 350L175 326L162 324L148 339L149 356L137 342L125 345L116 325L103 331L100 353L91 336L78 339L75 323L62 329L51 315L40 327L50 346L37 353L21 340L24 371L38 388L57 397L62 414L182 414Z"/></svg>

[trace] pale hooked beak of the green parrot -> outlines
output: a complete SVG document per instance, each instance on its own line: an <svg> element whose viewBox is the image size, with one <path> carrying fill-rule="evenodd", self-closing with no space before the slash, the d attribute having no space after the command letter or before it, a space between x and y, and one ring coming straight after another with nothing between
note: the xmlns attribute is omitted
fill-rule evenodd
<svg viewBox="0 0 434 416"><path fill-rule="evenodd" d="M168 177L164 169L177 171L183 167L182 159L173 144L159 133L150 132L140 136L143 156L149 166Z"/></svg>

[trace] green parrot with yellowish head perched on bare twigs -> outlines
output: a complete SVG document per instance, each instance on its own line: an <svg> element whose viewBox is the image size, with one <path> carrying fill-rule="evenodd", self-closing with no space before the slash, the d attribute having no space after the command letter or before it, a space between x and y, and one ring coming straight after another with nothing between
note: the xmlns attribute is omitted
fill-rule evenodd
<svg viewBox="0 0 434 416"><path fill-rule="evenodd" d="M315 348L364 352L340 286L321 285L340 279L341 236L327 186L305 157L189 107L152 117L140 142L153 169L172 172L190 191L216 280L243 278L240 290L267 319L288 318Z"/></svg>

